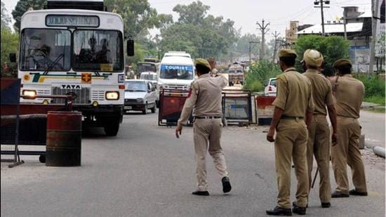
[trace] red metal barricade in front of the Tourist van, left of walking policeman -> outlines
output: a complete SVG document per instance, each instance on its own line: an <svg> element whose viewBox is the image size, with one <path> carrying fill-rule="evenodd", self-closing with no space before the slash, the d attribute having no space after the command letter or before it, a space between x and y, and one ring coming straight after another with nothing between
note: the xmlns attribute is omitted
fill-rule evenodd
<svg viewBox="0 0 386 217"><path fill-rule="evenodd" d="M184 107L188 95L189 91L176 89L163 89L161 93L159 93L159 126L177 125L182 107ZM192 121L189 122L191 123Z"/></svg>

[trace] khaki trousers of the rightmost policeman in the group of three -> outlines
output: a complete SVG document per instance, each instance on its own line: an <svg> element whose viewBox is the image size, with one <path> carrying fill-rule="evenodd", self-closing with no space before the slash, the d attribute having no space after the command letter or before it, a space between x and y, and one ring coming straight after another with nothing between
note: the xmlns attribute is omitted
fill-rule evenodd
<svg viewBox="0 0 386 217"><path fill-rule="evenodd" d="M344 194L349 192L348 164L352 171L352 182L355 190L367 192L364 162L359 151L359 137L361 136L359 122L354 118L338 116L337 125L338 144L331 147L336 191Z"/></svg>

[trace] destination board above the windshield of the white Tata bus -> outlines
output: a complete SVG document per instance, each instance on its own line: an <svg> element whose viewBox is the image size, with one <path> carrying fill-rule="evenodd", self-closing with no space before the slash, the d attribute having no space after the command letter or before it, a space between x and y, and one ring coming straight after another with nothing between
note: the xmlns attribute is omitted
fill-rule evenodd
<svg viewBox="0 0 386 217"><path fill-rule="evenodd" d="M47 15L48 27L99 27L98 16L88 15Z"/></svg>

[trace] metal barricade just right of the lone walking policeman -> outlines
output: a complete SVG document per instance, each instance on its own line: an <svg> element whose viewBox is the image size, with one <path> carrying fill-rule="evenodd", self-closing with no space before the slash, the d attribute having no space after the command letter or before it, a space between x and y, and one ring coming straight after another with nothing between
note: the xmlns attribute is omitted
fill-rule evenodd
<svg viewBox="0 0 386 217"><path fill-rule="evenodd" d="M253 96L249 90L222 91L222 114L227 124L253 124Z"/></svg>

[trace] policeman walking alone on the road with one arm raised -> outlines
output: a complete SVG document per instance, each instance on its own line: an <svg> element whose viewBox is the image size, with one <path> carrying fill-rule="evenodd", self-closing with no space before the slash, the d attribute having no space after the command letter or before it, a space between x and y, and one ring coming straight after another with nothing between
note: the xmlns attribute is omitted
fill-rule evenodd
<svg viewBox="0 0 386 217"><path fill-rule="evenodd" d="M182 132L182 124L186 124L187 119L193 110L194 117L194 151L197 163L197 191L193 195L208 196L208 183L206 183L206 152L213 157L215 169L222 178L222 191L229 192L231 185L228 178L227 166L225 164L224 152L220 145L222 127L222 107L221 91L227 86L227 79L218 74L211 77L211 65L207 60L197 59L196 81L192 82L191 90L185 105L182 108L178 126L175 129L175 136L179 138Z"/></svg>

